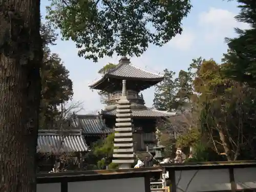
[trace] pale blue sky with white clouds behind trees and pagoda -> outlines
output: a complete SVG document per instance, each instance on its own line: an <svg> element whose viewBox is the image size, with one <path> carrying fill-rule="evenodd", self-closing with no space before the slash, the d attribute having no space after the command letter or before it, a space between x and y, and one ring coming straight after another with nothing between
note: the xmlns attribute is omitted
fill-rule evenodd
<svg viewBox="0 0 256 192"><path fill-rule="evenodd" d="M193 8L182 20L183 32L175 36L165 46L150 45L140 57L132 57L131 63L144 70L163 73L164 69L179 73L186 70L191 60L202 56L221 61L223 53L227 51L225 37L235 37L234 28L242 29L248 26L238 23L234 16L239 12L236 1L223 0L192 0ZM41 15L46 16L48 0L41 0ZM58 32L58 31L57 31ZM104 108L96 90L92 91L88 85L100 78L97 73L109 62L118 63L120 57L113 56L100 59L97 63L86 60L77 55L78 49L73 41L62 41L59 35L53 53L59 54L66 68L70 71L73 81L73 101L83 101L84 110L80 113L96 113ZM154 87L142 92L148 107L153 104Z"/></svg>

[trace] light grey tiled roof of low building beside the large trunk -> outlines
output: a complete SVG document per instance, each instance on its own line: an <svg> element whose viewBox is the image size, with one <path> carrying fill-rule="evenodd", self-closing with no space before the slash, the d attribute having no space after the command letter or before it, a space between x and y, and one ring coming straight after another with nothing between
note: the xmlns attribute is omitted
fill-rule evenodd
<svg viewBox="0 0 256 192"><path fill-rule="evenodd" d="M57 133L56 130L39 130L37 137L37 152L39 153L72 153L86 152L88 146L79 130Z"/></svg>

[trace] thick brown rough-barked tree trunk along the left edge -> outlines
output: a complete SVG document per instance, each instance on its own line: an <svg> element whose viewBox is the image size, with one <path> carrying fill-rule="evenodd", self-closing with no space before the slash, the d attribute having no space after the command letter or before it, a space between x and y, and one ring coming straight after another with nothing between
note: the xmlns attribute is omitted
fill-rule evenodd
<svg viewBox="0 0 256 192"><path fill-rule="evenodd" d="M39 0L0 0L0 191L36 191Z"/></svg>

